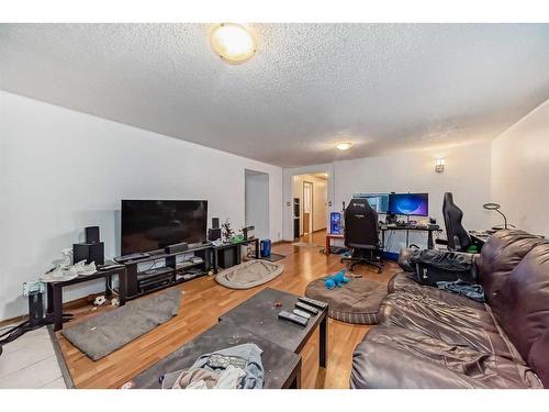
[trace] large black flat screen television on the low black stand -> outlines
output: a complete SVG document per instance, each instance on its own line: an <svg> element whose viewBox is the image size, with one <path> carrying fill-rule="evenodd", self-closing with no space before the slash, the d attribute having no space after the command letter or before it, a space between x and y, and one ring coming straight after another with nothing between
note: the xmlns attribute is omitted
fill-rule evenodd
<svg viewBox="0 0 549 412"><path fill-rule="evenodd" d="M122 255L206 240L205 200L122 200Z"/></svg>

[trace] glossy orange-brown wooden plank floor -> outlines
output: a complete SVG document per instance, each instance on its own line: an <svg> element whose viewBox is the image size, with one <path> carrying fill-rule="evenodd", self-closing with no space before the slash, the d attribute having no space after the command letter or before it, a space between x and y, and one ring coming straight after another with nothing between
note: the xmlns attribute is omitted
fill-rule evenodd
<svg viewBox="0 0 549 412"><path fill-rule="evenodd" d="M324 245L324 232L316 232L301 238ZM178 286L184 291L179 315L154 331L133 341L123 348L98 361L92 361L74 347L60 333L57 338L63 355L77 388L117 388L132 377L170 354L194 336L201 334L217 322L217 318L233 309L265 287L303 294L307 283L329 272L335 272L343 265L339 256L324 256L320 248L296 247L290 243L273 246L273 252L285 255L280 260L285 266L281 276L260 287L248 290L233 290L215 282L213 277L203 277ZM385 264L383 274L367 266L357 267L354 272L369 279L386 282L396 271L394 263ZM90 307L71 310L76 314L74 322L79 322L102 310L91 310ZM328 366L326 370L309 366L317 359L316 344L302 353L303 387L311 388L348 388L351 367L351 355L355 346L362 339L368 326L351 325L334 320L328 324Z"/></svg>

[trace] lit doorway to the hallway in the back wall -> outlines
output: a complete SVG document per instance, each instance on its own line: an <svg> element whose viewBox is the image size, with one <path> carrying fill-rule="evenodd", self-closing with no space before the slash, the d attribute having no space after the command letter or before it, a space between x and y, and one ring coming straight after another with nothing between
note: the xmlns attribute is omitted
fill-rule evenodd
<svg viewBox="0 0 549 412"><path fill-rule="evenodd" d="M327 174L295 175L293 178L293 238L325 231L328 215Z"/></svg>

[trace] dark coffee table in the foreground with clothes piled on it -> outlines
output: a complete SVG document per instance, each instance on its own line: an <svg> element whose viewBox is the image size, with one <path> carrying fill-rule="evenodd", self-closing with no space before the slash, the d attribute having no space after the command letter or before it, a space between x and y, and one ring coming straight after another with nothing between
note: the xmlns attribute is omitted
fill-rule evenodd
<svg viewBox="0 0 549 412"><path fill-rule="evenodd" d="M254 343L262 349L261 364L265 371L265 389L300 388L301 356L249 331L235 329L228 322L217 323L137 375L132 379L134 388L159 389L161 376L189 368L201 355L247 343Z"/></svg>

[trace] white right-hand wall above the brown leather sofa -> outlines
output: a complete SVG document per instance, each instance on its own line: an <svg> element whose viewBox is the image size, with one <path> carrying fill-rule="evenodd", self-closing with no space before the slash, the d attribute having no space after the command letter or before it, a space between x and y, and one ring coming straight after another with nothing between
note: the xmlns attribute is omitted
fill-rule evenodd
<svg viewBox="0 0 549 412"><path fill-rule="evenodd" d="M549 100L492 142L492 201L518 229L549 236ZM493 222L503 224L494 212Z"/></svg>

